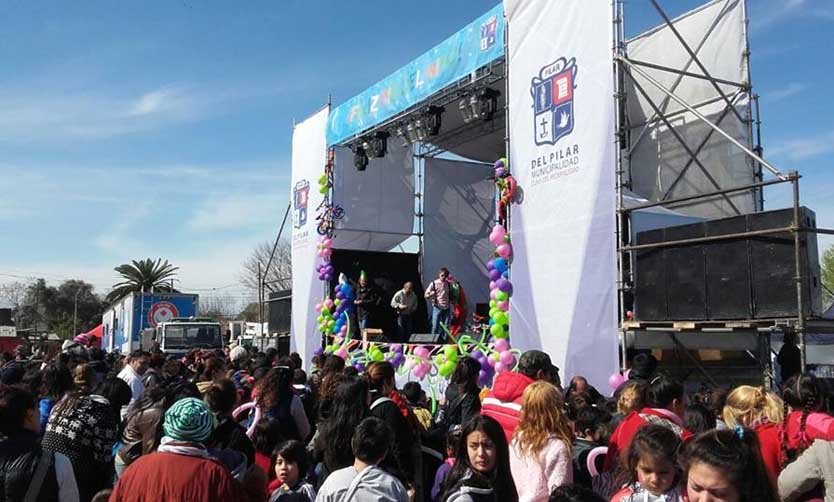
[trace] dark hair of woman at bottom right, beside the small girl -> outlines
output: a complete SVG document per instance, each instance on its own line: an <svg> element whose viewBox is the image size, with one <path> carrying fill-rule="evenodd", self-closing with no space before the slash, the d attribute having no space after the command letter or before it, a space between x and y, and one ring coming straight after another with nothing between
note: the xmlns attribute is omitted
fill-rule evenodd
<svg viewBox="0 0 834 502"><path fill-rule="evenodd" d="M687 445L682 467L688 473L702 463L720 471L738 490L740 502L778 500L759 452L759 439L750 429L713 430Z"/></svg>

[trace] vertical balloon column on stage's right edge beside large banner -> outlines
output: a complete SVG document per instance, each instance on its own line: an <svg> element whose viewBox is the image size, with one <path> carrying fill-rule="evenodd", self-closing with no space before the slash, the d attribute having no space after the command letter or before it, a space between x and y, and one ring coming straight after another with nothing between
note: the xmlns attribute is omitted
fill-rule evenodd
<svg viewBox="0 0 834 502"><path fill-rule="evenodd" d="M489 332L496 339L510 336L510 297L513 285L510 282L510 262L513 247L510 236L503 225L492 227L489 241L495 245L495 257L487 262L489 274Z"/></svg>

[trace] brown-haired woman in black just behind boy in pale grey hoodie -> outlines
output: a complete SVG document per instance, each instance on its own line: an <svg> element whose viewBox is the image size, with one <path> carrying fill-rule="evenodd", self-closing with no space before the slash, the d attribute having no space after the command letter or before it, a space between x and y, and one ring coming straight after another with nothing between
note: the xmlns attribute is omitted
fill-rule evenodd
<svg viewBox="0 0 834 502"><path fill-rule="evenodd" d="M368 392L371 395L371 416L384 421L394 433L394 447L380 464L394 474L404 485L414 482L417 440L416 420L408 409L405 399L397 391L394 381L394 367L388 361L371 363L365 369Z"/></svg>

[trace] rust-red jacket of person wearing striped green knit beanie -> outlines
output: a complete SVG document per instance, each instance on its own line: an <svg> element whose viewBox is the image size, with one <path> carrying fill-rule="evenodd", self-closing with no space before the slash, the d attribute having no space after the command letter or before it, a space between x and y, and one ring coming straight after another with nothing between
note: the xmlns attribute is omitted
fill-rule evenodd
<svg viewBox="0 0 834 502"><path fill-rule="evenodd" d="M110 502L223 502L248 500L243 487L217 462L176 453L142 455L113 487Z"/></svg>

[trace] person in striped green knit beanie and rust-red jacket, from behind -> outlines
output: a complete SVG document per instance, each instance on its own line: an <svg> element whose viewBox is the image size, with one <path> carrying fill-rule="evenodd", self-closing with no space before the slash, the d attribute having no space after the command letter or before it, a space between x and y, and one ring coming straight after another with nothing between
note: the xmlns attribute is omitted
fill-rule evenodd
<svg viewBox="0 0 834 502"><path fill-rule="evenodd" d="M159 449L130 464L113 487L111 502L247 500L243 487L226 467L209 458L204 446L214 420L199 399L174 403L165 412Z"/></svg>

